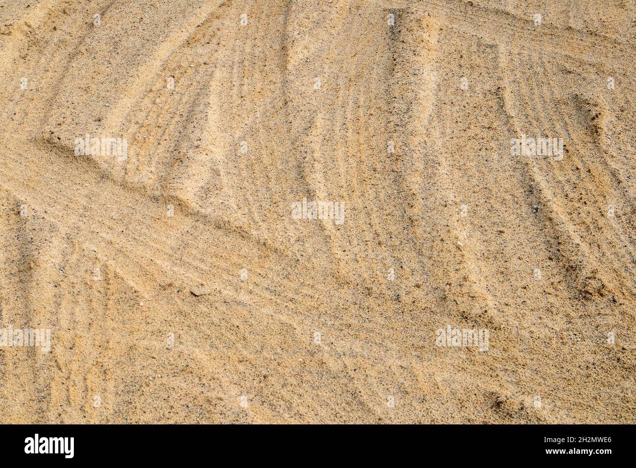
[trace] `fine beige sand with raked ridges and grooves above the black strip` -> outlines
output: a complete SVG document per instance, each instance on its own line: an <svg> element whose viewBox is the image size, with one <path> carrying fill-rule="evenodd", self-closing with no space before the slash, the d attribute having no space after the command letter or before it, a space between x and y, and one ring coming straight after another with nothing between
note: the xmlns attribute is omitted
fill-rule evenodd
<svg viewBox="0 0 636 468"><path fill-rule="evenodd" d="M0 329L51 333L0 343L0 419L635 422L635 28L632 0L0 1Z"/></svg>

